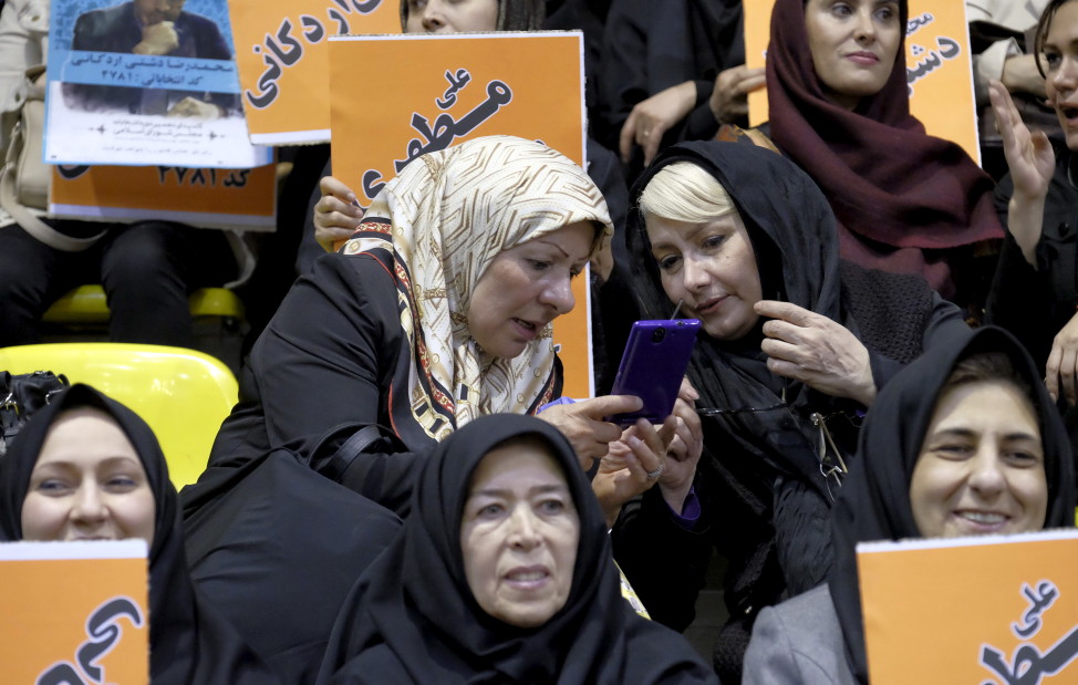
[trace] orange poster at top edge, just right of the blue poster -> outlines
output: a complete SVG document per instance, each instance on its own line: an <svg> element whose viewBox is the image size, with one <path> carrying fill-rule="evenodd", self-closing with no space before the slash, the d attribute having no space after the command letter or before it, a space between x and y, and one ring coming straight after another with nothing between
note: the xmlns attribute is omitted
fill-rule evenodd
<svg viewBox="0 0 1078 685"><path fill-rule="evenodd" d="M228 0L251 143L330 139L332 35L400 33L401 0ZM373 96L381 60L352 65L349 87Z"/></svg>

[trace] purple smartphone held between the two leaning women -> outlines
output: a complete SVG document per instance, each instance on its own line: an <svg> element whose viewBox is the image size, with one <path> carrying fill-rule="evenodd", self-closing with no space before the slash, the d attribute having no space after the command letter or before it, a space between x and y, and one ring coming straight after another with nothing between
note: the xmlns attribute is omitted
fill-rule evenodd
<svg viewBox="0 0 1078 685"><path fill-rule="evenodd" d="M615 414L607 421L623 426L646 418L661 424L674 411L682 377L693 355L699 319L657 319L638 321L629 333L611 395L636 395L644 407Z"/></svg>

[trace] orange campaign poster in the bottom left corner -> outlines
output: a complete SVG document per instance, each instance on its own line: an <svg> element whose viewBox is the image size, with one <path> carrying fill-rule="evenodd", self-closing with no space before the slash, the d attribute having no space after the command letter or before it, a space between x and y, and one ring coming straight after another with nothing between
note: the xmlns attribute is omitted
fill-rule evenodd
<svg viewBox="0 0 1078 685"><path fill-rule="evenodd" d="M149 682L144 540L0 544L0 682Z"/></svg>

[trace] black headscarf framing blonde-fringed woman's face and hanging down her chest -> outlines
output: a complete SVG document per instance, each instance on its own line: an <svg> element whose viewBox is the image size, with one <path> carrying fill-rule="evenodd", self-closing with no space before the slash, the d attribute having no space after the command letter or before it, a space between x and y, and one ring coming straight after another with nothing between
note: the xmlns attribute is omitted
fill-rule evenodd
<svg viewBox="0 0 1078 685"><path fill-rule="evenodd" d="M647 315L667 318L673 304L663 291L659 263L651 255L638 205L654 175L676 162L699 166L729 194L752 240L765 299L792 302L847 323L848 328L852 325L843 321L841 313L835 217L819 188L780 155L753 145L716 142L682 143L663 151L633 188L634 210L626 238L638 293ZM688 371L701 393L697 406L760 409L778 405L774 411L737 412L707 423L721 426L726 439L759 455L780 473L812 484L823 494L826 486L813 447L798 428L795 414L807 416L810 404L827 413L826 407L835 399L767 370L767 356L759 346L761 325L763 322L738 341L699 336ZM787 406L794 409L792 414Z"/></svg>

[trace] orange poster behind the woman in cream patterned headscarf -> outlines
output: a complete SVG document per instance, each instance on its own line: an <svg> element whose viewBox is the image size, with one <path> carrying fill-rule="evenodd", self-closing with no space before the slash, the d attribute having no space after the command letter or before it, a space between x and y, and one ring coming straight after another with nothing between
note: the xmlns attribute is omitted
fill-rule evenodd
<svg viewBox="0 0 1078 685"><path fill-rule="evenodd" d="M356 64L380 64L375 92ZM584 163L583 35L579 31L356 35L330 41L333 175L369 206L415 157L488 135L542 141ZM590 397L588 279L554 323L564 394Z"/></svg>

